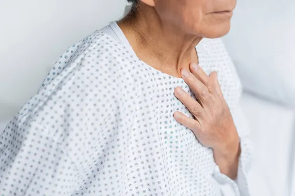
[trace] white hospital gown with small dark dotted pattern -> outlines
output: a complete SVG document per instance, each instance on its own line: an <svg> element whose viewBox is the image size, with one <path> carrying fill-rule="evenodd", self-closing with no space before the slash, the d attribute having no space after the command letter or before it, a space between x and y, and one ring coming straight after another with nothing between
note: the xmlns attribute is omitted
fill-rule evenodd
<svg viewBox="0 0 295 196"><path fill-rule="evenodd" d="M43 87L0 132L0 196L248 196L248 127L241 84L220 39L198 46L200 66L219 72L240 136L236 181L212 149L173 117L192 114L174 96L181 78L141 61L96 30L59 58Z"/></svg>

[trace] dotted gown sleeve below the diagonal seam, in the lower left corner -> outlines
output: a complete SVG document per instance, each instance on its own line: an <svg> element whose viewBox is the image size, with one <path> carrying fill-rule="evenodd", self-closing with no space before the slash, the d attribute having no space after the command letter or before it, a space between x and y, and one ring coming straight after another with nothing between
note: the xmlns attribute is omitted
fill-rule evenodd
<svg viewBox="0 0 295 196"><path fill-rule="evenodd" d="M79 170L50 131L24 116L0 134L0 195L68 196Z"/></svg>

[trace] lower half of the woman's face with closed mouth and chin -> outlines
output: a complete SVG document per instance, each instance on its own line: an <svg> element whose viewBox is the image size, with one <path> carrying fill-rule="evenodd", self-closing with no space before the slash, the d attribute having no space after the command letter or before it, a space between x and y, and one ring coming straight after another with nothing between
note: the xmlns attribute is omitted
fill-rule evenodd
<svg viewBox="0 0 295 196"><path fill-rule="evenodd" d="M152 1L164 23L169 23L185 33L206 38L222 37L229 32L232 11L236 6L236 0Z"/></svg>

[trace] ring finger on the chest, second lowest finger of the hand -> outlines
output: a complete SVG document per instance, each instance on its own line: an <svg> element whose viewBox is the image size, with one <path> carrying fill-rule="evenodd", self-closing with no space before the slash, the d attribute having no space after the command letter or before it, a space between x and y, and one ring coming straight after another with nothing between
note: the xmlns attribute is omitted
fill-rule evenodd
<svg viewBox="0 0 295 196"><path fill-rule="evenodd" d="M187 107L187 109L195 116L202 117L204 109L198 101L188 95L181 87L175 88L175 96Z"/></svg>

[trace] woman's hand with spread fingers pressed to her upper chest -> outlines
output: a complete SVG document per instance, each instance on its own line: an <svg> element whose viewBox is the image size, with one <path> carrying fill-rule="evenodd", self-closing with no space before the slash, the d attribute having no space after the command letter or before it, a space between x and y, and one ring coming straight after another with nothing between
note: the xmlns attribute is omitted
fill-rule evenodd
<svg viewBox="0 0 295 196"><path fill-rule="evenodd" d="M208 76L197 64L190 65L191 72L182 69L184 81L198 99L190 97L182 88L175 89L175 96L190 110L195 119L175 112L177 122L191 129L198 140L211 147L220 171L236 178L240 155L239 137L230 109L222 95L217 72Z"/></svg>

